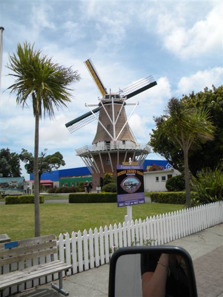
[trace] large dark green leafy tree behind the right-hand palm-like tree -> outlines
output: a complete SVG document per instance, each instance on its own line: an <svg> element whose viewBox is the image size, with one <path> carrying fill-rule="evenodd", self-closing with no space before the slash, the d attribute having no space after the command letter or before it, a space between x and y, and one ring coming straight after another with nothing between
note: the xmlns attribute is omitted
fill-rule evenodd
<svg viewBox="0 0 223 297"><path fill-rule="evenodd" d="M202 168L216 168L223 165L223 86L212 89L205 88L199 93L192 92L189 96L183 95L182 101L190 108L207 109L210 113L210 121L216 127L213 141L204 144L197 144L188 152L190 171L196 175ZM172 143L167 141L167 137L158 138L159 123L156 122L156 129L153 129L151 135L151 146L154 151L164 156L174 168L183 172L183 151L180 146L172 146ZM155 119L156 121L156 119ZM212 152L212 153L210 153Z"/></svg>

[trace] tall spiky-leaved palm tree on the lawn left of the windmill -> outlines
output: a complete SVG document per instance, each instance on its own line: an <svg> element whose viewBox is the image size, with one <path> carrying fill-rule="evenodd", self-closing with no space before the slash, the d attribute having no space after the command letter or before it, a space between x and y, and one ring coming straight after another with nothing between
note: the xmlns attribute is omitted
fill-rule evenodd
<svg viewBox="0 0 223 297"><path fill-rule="evenodd" d="M9 55L7 67L12 71L9 75L15 78L15 83L8 89L16 94L16 103L24 107L31 99L35 117L35 147L34 147L34 197L35 197L35 237L40 236L40 205L39 205L39 121L46 114L54 117L54 108L66 106L71 100L68 85L80 80L77 71L70 67L60 66L34 45L26 42L18 44L16 53Z"/></svg>

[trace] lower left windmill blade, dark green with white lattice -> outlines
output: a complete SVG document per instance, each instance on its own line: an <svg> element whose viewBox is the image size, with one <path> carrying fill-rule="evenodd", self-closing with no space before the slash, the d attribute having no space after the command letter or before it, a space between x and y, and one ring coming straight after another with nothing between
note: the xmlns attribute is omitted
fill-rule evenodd
<svg viewBox="0 0 223 297"><path fill-rule="evenodd" d="M97 107L92 110L92 112L99 117L100 107ZM77 131L78 129L86 126L87 124L96 120L95 116L92 114L91 111L77 117L76 119L68 122L65 124L66 128L69 130L70 133Z"/></svg>

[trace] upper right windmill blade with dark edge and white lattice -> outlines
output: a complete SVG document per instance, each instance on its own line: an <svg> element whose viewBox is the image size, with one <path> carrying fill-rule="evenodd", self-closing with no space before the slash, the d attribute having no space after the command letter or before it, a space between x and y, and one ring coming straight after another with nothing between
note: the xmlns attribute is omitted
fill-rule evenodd
<svg viewBox="0 0 223 297"><path fill-rule="evenodd" d="M151 76L148 76L139 82L123 89L119 90L120 96L121 97L126 97L126 99L129 99L139 93L142 93L154 86L157 85L157 82L154 80L154 78Z"/></svg>

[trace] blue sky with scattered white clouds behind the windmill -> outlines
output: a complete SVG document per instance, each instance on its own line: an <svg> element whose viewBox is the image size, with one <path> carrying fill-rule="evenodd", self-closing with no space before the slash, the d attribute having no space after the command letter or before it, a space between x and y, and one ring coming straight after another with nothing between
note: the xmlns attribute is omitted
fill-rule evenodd
<svg viewBox="0 0 223 297"><path fill-rule="evenodd" d="M59 151L65 168L85 166L75 149L91 145L97 121L70 134L65 123L88 112L100 93L84 61L91 58L107 90L118 92L152 75L157 86L131 98L139 102L129 124L139 144L147 144L154 117L164 114L171 97L182 98L223 84L223 1L75 1L0 0L3 54L0 88L0 148L34 153L31 100L22 109L6 67L18 43L36 49L66 67L78 70L71 102L40 122L39 151ZM132 106L126 107L129 115ZM152 152L147 159L162 159ZM22 176L29 175L22 166Z"/></svg>

